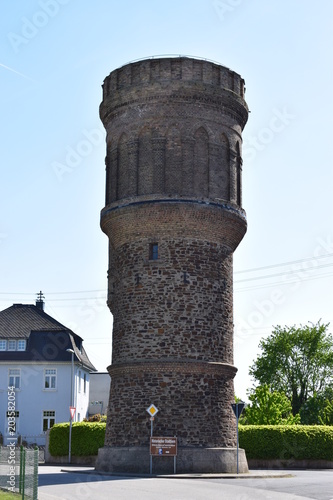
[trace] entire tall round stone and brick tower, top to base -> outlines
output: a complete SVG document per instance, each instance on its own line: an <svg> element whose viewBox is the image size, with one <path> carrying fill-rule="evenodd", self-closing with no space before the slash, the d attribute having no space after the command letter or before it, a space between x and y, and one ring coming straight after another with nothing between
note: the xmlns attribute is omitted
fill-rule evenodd
<svg viewBox="0 0 333 500"><path fill-rule="evenodd" d="M100 116L114 323L97 469L149 472L153 403L154 435L178 438L177 471L236 470L232 258L246 232L244 80L206 60L140 60L105 79ZM154 472L171 460L154 458Z"/></svg>

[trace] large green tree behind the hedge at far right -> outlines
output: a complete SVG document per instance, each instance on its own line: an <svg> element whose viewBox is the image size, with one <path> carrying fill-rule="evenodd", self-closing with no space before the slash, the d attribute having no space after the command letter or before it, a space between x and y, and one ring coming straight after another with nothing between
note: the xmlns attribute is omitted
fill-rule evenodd
<svg viewBox="0 0 333 500"><path fill-rule="evenodd" d="M333 387L333 339L328 324L276 326L260 341L262 353L250 367L261 385L283 391L291 401L293 415L315 394Z"/></svg>

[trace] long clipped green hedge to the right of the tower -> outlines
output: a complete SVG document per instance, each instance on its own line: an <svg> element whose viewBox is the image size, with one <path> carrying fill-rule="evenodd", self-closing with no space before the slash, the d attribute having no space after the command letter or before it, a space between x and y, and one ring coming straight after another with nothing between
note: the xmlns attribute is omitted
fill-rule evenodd
<svg viewBox="0 0 333 500"><path fill-rule="evenodd" d="M247 458L333 461L333 426L240 425L239 446Z"/></svg>

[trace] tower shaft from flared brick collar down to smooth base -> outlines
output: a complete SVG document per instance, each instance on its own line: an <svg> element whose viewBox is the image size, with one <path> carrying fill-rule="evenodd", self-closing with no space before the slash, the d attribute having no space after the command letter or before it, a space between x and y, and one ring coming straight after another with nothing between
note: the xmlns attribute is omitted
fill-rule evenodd
<svg viewBox="0 0 333 500"><path fill-rule="evenodd" d="M232 254L246 221L219 205L150 201L103 217L114 320L105 443L146 443L154 402L156 432L184 446L233 446Z"/></svg>

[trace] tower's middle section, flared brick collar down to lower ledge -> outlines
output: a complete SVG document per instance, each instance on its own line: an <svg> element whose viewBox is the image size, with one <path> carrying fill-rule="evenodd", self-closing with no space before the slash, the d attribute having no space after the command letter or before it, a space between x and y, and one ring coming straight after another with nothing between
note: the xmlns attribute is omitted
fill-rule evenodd
<svg viewBox="0 0 333 500"><path fill-rule="evenodd" d="M111 211L104 224L112 234L113 363L180 353L232 363L232 250L244 221L194 203L143 203Z"/></svg>

